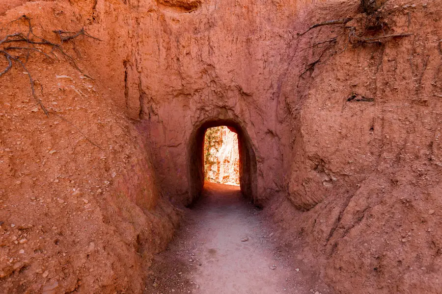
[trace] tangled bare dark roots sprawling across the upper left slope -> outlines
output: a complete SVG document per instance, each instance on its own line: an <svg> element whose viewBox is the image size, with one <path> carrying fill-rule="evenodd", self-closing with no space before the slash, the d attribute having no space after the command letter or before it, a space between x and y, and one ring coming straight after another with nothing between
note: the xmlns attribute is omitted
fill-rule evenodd
<svg viewBox="0 0 442 294"><path fill-rule="evenodd" d="M75 59L66 53L63 49L63 44L65 42L74 40L80 36L84 36L87 38L91 38L97 41L102 41L96 37L91 36L89 33L87 33L84 28L80 29L77 32L70 32L70 31L63 31L63 30L54 30L53 32L56 33L56 35L60 38L59 43L52 42L50 40L47 40L43 37L37 36L33 30L32 30L32 24L31 19L26 16L22 15L18 19L12 21L12 22L18 22L20 20L24 20L27 24L28 31L26 33L23 32L15 32L12 34L8 34L4 36L0 40L0 53L4 56L6 61L8 62L8 65L0 72L0 77L4 74L8 73L14 63L16 63L19 67L22 67L25 72L28 74L29 77L29 83L32 90L32 97L37 101L37 104L40 106L40 108L43 110L43 112L49 116L49 113L45 106L43 105L42 101L37 97L35 94L34 89L34 80L32 78L31 73L28 71L28 68L26 64L28 63L28 59L30 56L31 51L35 51L38 54L42 54L45 57L47 57L50 60L54 60L51 55L55 56L56 59L58 59L57 55L55 55L55 50L59 51L80 73L83 73L83 71L78 67L77 63L75 62ZM11 23L12 23L11 22ZM7 44L7 46L6 46ZM38 48L35 48L39 45ZM50 51L45 51L45 49L40 49L41 47L51 49ZM14 53L18 53L18 55L15 55ZM21 57L20 55L25 54L25 57ZM22 60L23 59L23 60ZM83 73L83 75L87 76L88 78L91 78L90 76ZM43 92L43 91L42 91Z"/></svg>

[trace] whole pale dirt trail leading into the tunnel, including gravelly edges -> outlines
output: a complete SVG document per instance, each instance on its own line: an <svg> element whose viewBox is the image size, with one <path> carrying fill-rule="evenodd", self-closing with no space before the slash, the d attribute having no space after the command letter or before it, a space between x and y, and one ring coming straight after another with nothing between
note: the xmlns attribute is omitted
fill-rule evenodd
<svg viewBox="0 0 442 294"><path fill-rule="evenodd" d="M206 183L202 199L156 257L145 293L331 293L301 263L289 266L288 251L278 249L262 219L239 187Z"/></svg>

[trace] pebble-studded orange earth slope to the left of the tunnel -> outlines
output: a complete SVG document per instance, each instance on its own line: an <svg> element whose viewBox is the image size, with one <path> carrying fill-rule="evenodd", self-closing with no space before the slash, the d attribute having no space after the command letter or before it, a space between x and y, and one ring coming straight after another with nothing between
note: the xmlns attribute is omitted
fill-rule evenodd
<svg viewBox="0 0 442 294"><path fill-rule="evenodd" d="M0 12L1 38L26 31L26 22L11 23L23 14L35 34L56 42L52 30L88 24L67 2L29 2ZM49 117L23 68L0 78L1 294L142 293L150 259L178 221L158 189L145 126L113 102L121 97L109 89L106 64L102 77L90 66L111 51L97 43L81 37L75 50L63 46L93 79L59 51L58 61L30 54L26 67Z"/></svg>

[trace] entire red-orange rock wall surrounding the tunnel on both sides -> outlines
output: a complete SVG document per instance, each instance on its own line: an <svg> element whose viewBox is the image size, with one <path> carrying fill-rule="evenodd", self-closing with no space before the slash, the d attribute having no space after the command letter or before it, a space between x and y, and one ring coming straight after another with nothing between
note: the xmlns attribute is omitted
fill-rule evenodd
<svg viewBox="0 0 442 294"><path fill-rule="evenodd" d="M254 202L337 293L438 293L441 4L391 0L370 15L356 0L3 8L2 27L26 14L43 34L84 26L103 42L68 44L93 80L44 56L28 65L63 119L32 111L20 68L0 79L1 291L141 293L177 221L169 202L195 198L192 134L219 120L253 149Z"/></svg>

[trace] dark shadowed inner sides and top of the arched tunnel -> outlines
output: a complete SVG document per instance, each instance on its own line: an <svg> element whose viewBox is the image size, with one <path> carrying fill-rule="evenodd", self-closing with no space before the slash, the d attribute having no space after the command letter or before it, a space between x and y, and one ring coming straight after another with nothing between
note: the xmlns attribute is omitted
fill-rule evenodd
<svg viewBox="0 0 442 294"><path fill-rule="evenodd" d="M189 187L191 199L201 195L204 187L204 136L208 128L227 126L238 135L239 173L241 193L255 199L257 193L256 157L250 137L245 129L234 120L207 120L197 125L189 142Z"/></svg>

